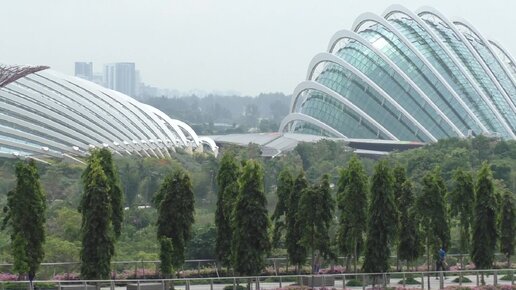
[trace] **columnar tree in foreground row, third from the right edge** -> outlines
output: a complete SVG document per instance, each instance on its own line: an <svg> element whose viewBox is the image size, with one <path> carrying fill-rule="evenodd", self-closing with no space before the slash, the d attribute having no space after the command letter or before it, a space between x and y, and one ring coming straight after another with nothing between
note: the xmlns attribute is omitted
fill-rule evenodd
<svg viewBox="0 0 516 290"><path fill-rule="evenodd" d="M468 253L470 248L475 188L473 185L473 177L462 168L454 172L453 181L453 190L449 193L448 200L451 216L458 217L459 219L459 250L462 255L463 253Z"/></svg>

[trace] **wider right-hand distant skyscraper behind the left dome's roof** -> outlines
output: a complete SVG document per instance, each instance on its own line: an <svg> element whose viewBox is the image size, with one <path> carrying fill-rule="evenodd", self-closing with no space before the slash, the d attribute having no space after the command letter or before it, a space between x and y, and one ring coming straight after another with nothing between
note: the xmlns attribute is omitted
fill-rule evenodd
<svg viewBox="0 0 516 290"><path fill-rule="evenodd" d="M136 90L134 63L118 62L104 66L104 84L107 88L134 97Z"/></svg>

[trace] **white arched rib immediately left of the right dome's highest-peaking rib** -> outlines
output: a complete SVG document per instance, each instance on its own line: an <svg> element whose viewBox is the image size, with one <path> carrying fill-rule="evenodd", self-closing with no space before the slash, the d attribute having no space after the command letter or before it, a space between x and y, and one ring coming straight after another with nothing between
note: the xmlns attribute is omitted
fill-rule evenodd
<svg viewBox="0 0 516 290"><path fill-rule="evenodd" d="M367 22L374 22L378 25L383 26L386 30L390 31L394 35L398 37L398 39L410 49L410 51L418 57L418 59L423 62L423 64L434 74L437 80L450 92L453 98L461 105L464 111L467 112L468 116L477 124L477 126L482 130L483 133L489 133L487 127L478 119L471 108L464 102L464 100L460 97L460 95L451 87L451 85L446 81L446 79L437 71L437 69L424 57L421 52L414 47L414 45L408 41L408 39L401 34L396 28L394 28L387 20L379 17L373 13L363 13L361 14L353 24L353 31L360 31L363 24Z"/></svg>

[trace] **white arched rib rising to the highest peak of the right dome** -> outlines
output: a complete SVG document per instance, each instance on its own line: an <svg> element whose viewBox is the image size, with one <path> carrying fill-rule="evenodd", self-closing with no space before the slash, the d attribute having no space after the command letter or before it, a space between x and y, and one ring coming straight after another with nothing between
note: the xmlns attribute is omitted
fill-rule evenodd
<svg viewBox="0 0 516 290"><path fill-rule="evenodd" d="M439 45L439 47L446 53L446 55L451 59L451 61L454 63L454 65L461 71L463 76L468 80L468 82L471 84L471 86L475 89L477 94L479 94L484 102L489 106L493 114L495 115L496 119L499 121L499 123L502 125L502 127L506 130L506 133L513 139L516 139L516 135L514 135L511 126L505 121L501 113L498 111L496 106L491 102L491 99L488 98L482 89L479 87L478 82L473 79L470 73L466 72L464 67L460 64L460 61L457 59L455 54L451 52L448 47L441 41L440 37L435 35L435 33L422 21L419 16L412 13L412 11L406 9L405 7L401 5L392 5L389 8L387 8L384 12L384 18L389 19L389 17L393 14L400 13L404 16L412 19L415 21L423 30L425 30L433 39L435 43Z"/></svg>

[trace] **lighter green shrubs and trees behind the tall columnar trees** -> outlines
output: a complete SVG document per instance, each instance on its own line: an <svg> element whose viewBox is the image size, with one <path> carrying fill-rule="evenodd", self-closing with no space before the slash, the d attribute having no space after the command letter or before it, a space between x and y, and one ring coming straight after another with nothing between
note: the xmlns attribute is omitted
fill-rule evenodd
<svg viewBox="0 0 516 290"><path fill-rule="evenodd" d="M347 167L353 156L343 143L321 141L316 144L303 143L292 152L273 159L261 159L259 148L226 147L222 152L232 151L238 160L260 160L264 172L264 193L267 209L273 213L277 204L276 180L284 168L294 172L304 170L307 181L316 184L324 174L334 185L331 191L335 198L340 169ZM375 159L361 158L364 171L372 176ZM125 219L117 242L115 260L157 260L159 244L156 240L156 210L152 199L166 172L184 168L189 172L195 195L195 224L192 239L187 246L186 258L215 258L214 227L217 202L216 176L220 160L208 154L188 155L178 152L173 159L131 159L115 158L120 172L120 181L125 195ZM441 169L444 186L453 189L454 170L477 171L482 162L488 161L496 179L497 188L505 186L516 192L516 142L500 141L486 137L474 139L450 139L428 145L424 148L394 153L387 157L390 164L406 168L408 178L413 181L414 192L420 192L424 176L437 165ZM15 160L0 159L0 207L6 203L6 194L14 186ZM42 187L47 196L47 240L44 262L78 261L80 251L79 230L81 217L77 212L80 201L80 176L84 166L75 163L57 162L52 166L37 164ZM338 212L336 213L338 214ZM457 218L455 218L457 219ZM452 222L449 252L459 252L459 232ZM271 255L285 256L286 249L272 251ZM9 238L0 235L0 261L12 262Z"/></svg>

